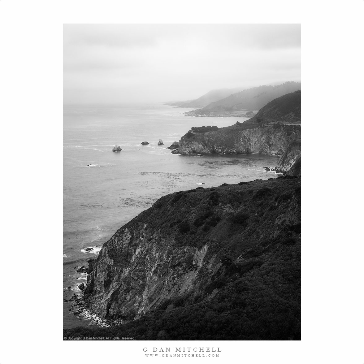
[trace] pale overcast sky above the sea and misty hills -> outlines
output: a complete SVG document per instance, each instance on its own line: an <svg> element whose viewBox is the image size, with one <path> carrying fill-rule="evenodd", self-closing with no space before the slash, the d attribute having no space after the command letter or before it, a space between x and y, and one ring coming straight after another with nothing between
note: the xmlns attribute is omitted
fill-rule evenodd
<svg viewBox="0 0 364 364"><path fill-rule="evenodd" d="M166 102L298 81L300 24L65 24L64 103Z"/></svg>

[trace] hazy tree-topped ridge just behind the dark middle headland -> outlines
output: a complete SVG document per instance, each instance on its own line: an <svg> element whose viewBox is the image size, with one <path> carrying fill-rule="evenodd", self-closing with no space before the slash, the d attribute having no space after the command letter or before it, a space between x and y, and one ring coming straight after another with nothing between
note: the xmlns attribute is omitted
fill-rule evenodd
<svg viewBox="0 0 364 364"><path fill-rule="evenodd" d="M300 82L288 81L280 85L264 85L249 88L227 96L224 99L211 102L202 109L187 112L188 116L226 116L246 110L259 110L268 102L301 90Z"/></svg>

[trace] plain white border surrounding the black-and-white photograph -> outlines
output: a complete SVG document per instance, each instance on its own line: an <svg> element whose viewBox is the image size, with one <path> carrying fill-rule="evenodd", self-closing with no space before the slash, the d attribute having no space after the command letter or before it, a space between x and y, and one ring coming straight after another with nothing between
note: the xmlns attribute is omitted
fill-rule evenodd
<svg viewBox="0 0 364 364"><path fill-rule="evenodd" d="M165 362L363 363L363 2L9 0L1 1L1 363L149 363L143 347L183 346L62 341L63 23L244 21L302 24L302 341L187 342L223 356Z"/></svg>

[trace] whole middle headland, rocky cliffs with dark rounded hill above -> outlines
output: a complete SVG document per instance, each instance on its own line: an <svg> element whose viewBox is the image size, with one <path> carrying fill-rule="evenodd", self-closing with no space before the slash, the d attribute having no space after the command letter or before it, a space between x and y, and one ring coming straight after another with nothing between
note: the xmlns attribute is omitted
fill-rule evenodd
<svg viewBox="0 0 364 364"><path fill-rule="evenodd" d="M178 154L265 153L281 156L277 173L301 175L301 91L280 96L244 123L224 128L193 127ZM294 168L293 168L294 166Z"/></svg>

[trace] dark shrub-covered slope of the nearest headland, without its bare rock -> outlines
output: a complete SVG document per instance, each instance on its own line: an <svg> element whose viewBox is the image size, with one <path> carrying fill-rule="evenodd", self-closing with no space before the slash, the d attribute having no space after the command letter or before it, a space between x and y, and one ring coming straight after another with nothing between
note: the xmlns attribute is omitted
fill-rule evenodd
<svg viewBox="0 0 364 364"><path fill-rule="evenodd" d="M128 323L69 329L64 336L300 340L300 197L300 178L290 176L198 187L162 197L104 244L91 269L86 294L91 306L95 297L112 296L110 288L97 284L100 273L96 271L102 271L106 255L108 262L121 266L122 261L133 269L131 262L136 258L123 256L125 248L114 249L115 244L124 232L147 226L151 234L146 244L153 243L154 250L159 244L172 257L154 269L153 274L160 274L160 297L151 297L155 303L143 306L141 314L135 311L137 318ZM197 262L189 252L199 249L205 249L205 255ZM176 252L179 256L173 255ZM167 287L163 279L173 276L178 286L179 274L193 273L191 289L162 291ZM111 286L123 279L118 277L112 277ZM143 280L142 275L138 279ZM146 290L149 281L147 277L139 286ZM118 294L123 287L120 284ZM138 286L129 284L128 289L138 290ZM107 318L121 317L123 303L117 298L115 302L108 302L116 308L106 313Z"/></svg>

